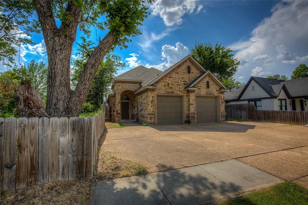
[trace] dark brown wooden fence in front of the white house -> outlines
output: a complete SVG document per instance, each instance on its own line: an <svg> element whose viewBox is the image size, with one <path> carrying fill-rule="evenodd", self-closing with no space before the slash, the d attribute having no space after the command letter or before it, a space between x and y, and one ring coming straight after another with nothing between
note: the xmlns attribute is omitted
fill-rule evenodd
<svg viewBox="0 0 308 205"><path fill-rule="evenodd" d="M308 124L308 111L257 110L253 104L225 105L226 118L238 118L285 124Z"/></svg>

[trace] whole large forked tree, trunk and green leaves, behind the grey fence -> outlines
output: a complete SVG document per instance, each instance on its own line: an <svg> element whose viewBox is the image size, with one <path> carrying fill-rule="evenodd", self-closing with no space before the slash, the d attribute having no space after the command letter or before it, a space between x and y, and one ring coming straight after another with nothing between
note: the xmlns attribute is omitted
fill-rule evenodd
<svg viewBox="0 0 308 205"><path fill-rule="evenodd" d="M147 2L152 3L152 0ZM143 0L5 0L1 8L1 14L4 14L2 22L7 25L5 32L2 32L2 28L1 33L14 33L16 28L27 34L43 32L48 56L46 110L50 117L79 116L105 55L115 46L126 48L126 43L132 41L131 37L141 34L140 26L149 15ZM20 15L14 15L15 12ZM11 13L16 16L14 21L9 21ZM34 30L30 30L31 28ZM79 36L83 44L91 45L88 39L93 28L103 31L100 33L105 36L102 40L97 36L95 46L89 46L87 61L82 65L83 70L75 90L72 90L70 64L77 29L80 30ZM23 39L19 41L30 43ZM16 54L16 50L12 49L16 44L16 39L9 41L6 46L11 46L8 49L10 52L6 53L10 55L5 53L3 56ZM13 58L6 61L13 61Z"/></svg>

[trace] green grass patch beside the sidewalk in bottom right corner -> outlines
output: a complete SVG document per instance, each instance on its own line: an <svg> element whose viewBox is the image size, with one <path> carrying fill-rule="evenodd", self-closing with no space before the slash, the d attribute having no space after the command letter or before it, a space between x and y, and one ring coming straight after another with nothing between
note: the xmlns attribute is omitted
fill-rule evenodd
<svg viewBox="0 0 308 205"><path fill-rule="evenodd" d="M231 199L221 203L223 205L281 205L308 204L308 189L295 182L287 181L274 187Z"/></svg>

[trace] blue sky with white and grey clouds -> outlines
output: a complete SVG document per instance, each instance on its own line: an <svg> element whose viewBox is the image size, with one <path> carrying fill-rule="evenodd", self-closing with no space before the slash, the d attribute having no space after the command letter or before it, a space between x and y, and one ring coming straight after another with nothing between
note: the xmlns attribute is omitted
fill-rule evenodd
<svg viewBox="0 0 308 205"><path fill-rule="evenodd" d="M290 78L295 67L308 64L308 2L158 0L148 6L151 15L140 27L143 34L132 38L127 49L115 49L126 63L118 74L138 65L167 69L185 57L195 41L233 49L241 61L234 77L242 82L250 76ZM104 34L98 33L101 38ZM33 34L32 39L36 45L23 45L16 61L47 64L43 35ZM93 31L91 40L97 39ZM77 49L75 43L72 60ZM0 69L6 70L2 65Z"/></svg>

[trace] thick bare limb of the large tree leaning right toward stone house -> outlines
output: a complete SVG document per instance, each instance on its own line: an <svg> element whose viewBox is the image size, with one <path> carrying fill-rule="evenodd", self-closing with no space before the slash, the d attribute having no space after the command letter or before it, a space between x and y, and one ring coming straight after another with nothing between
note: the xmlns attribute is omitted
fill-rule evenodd
<svg viewBox="0 0 308 205"><path fill-rule="evenodd" d="M108 34L99 42L97 47L92 52L91 56L87 60L87 63L83 66L83 72L77 83L74 97L72 103L76 106L83 106L84 101L86 100L87 93L92 85L93 78L95 73L105 57L108 51L111 49L117 37L114 35L114 32L109 31ZM78 109L77 109L78 110Z"/></svg>

